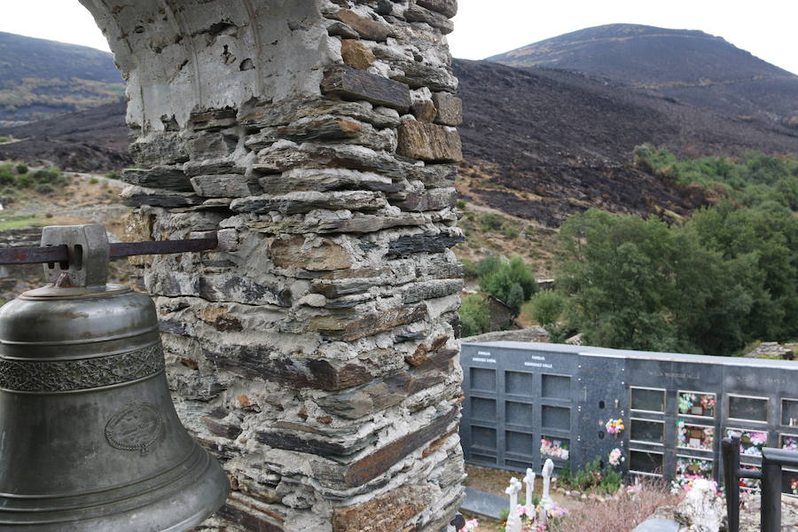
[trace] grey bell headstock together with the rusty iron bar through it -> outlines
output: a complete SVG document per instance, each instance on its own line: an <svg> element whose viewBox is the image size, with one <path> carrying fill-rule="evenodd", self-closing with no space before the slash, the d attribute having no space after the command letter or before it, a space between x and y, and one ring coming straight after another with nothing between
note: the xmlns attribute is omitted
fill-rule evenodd
<svg viewBox="0 0 798 532"><path fill-rule="evenodd" d="M42 246L0 249L0 265L44 264L51 283L68 277L72 286L105 285L111 259L144 254L176 254L214 250L215 236L151 242L108 241L102 225L50 225L42 231Z"/></svg>

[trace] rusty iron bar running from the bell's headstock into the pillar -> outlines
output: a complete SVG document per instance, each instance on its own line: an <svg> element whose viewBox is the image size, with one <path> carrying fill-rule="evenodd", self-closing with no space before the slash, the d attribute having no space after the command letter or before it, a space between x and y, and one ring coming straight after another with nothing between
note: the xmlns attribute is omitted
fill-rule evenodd
<svg viewBox="0 0 798 532"><path fill-rule="evenodd" d="M175 254L209 251L218 246L216 239L157 240L152 242L114 242L110 258L143 254ZM0 265L69 262L67 246L6 247L0 249Z"/></svg>

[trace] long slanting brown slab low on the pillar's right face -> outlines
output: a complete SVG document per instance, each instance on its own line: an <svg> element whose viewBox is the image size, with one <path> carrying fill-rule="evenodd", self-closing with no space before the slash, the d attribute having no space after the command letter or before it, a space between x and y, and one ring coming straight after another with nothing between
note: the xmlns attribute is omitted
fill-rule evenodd
<svg viewBox="0 0 798 532"><path fill-rule="evenodd" d="M394 442L381 447L379 450L375 450L371 455L357 460L344 473L344 481L349 487L356 488L376 479L380 474L385 473L393 465L411 454L411 452L433 441L438 435L445 433L450 423L458 419L458 416L459 409L452 409L433 419L427 426L420 428L416 432L406 434Z"/></svg>

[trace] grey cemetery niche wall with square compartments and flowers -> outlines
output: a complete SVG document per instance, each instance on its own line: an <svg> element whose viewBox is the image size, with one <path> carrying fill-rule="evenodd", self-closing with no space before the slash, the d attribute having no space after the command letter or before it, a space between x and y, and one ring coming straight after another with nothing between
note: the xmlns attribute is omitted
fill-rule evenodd
<svg viewBox="0 0 798 532"><path fill-rule="evenodd" d="M741 462L798 450L798 364L548 343L464 343L466 462L572 471L622 450L624 473L722 480L720 441ZM798 471L783 489L798 495ZM755 481L749 482L755 488Z"/></svg>

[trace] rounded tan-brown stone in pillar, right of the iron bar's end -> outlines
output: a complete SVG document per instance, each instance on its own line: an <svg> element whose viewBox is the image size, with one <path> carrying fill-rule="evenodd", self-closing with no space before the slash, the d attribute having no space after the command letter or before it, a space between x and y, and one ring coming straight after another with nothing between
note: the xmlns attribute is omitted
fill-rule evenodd
<svg viewBox="0 0 798 532"><path fill-rule="evenodd" d="M352 257L342 246L322 239L305 246L304 237L276 239L269 248L271 262L278 268L301 268L309 271L345 270L352 266Z"/></svg>

